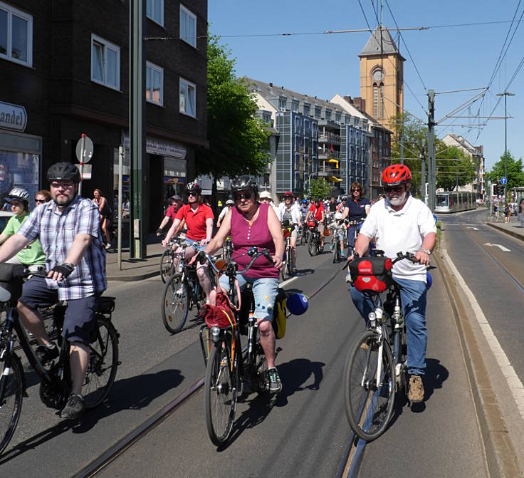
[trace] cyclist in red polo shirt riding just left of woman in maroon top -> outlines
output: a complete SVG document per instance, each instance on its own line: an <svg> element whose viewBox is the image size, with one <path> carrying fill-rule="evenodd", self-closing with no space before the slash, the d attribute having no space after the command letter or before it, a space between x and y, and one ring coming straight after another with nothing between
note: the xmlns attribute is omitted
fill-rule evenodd
<svg viewBox="0 0 524 478"><path fill-rule="evenodd" d="M180 207L173 221L172 226L167 232L166 238L162 241L162 246L169 244L169 239L184 220L187 225L186 236L186 259L191 259L196 251L204 249L206 244L211 241L213 234L213 211L211 207L202 203L201 188L198 182L189 182L186 186L187 204ZM207 274L207 264L196 264L196 275L199 277L202 290L206 294L206 303L209 303L209 293L211 292L211 281Z"/></svg>

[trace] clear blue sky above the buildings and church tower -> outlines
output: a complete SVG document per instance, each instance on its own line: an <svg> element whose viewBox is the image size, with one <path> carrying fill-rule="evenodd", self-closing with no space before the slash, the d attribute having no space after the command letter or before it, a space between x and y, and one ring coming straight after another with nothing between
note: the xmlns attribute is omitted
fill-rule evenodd
<svg viewBox="0 0 524 478"><path fill-rule="evenodd" d="M504 98L497 105L496 93L506 90L524 62L524 1L383 1L387 28L430 27L401 31L397 42L406 58L404 110L426 123L427 90L432 89L439 121L489 85L483 100L478 98L471 108L456 113L468 118L441 121L436 135L442 138L454 133L473 145L483 145L486 170L491 170L504 154L505 121L473 116L505 115ZM335 93L360 96L357 55L370 38L368 24L374 29L380 16L380 0L209 0L208 4L211 33L221 36L221 43L236 58L237 76L324 99ZM321 33L364 28L367 31L360 33ZM395 41L397 35L392 31ZM501 52L503 59L499 60ZM446 93L456 90L468 91ZM507 145L518 159L524 157L524 66L507 90L515 94L507 97ZM471 128L473 123L487 124Z"/></svg>

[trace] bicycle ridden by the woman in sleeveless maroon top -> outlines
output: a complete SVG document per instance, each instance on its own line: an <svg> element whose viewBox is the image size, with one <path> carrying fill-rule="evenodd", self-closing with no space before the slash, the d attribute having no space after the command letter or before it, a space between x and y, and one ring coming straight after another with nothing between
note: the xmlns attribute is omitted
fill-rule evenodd
<svg viewBox="0 0 524 478"><path fill-rule="evenodd" d="M209 260L206 253L201 254ZM228 297L231 304L238 306L234 306L234 317L229 321L211 328L204 324L200 329L200 343L206 364L206 426L211 442L217 446L229 439L236 415L236 403L244 388L251 388L258 394L265 393L269 388L266 355L260 343L256 319L253 317L253 291L250 284L247 284L245 291L240 293L236 274L247 272L260 256L265 256L271 264L273 259L267 249L258 251L256 247L249 249L248 256L252 259L243 271L238 270L238 264L234 261L225 264L221 271L213 264L217 274L222 273L229 277ZM204 332L209 340L204 339ZM241 345L241 333L247 333L248 346L245 351Z"/></svg>

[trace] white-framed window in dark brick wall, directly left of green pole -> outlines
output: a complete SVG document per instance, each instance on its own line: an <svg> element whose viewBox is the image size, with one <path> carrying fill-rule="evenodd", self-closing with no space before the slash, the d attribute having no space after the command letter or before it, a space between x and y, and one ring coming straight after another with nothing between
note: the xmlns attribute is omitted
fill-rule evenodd
<svg viewBox="0 0 524 478"><path fill-rule="evenodd" d="M120 90L120 48L91 35L91 80Z"/></svg>

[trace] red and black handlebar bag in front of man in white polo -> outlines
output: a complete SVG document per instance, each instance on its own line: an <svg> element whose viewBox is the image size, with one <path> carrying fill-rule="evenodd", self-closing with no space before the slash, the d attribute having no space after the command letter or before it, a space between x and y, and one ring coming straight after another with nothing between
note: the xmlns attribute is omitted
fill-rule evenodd
<svg viewBox="0 0 524 478"><path fill-rule="evenodd" d="M392 260L389 257L359 257L350 264L351 280L360 292L384 292L392 286Z"/></svg>

